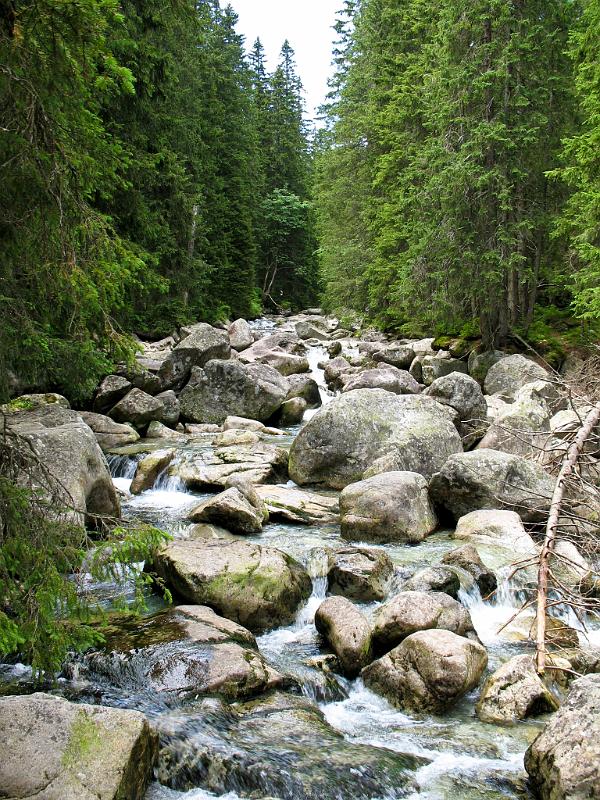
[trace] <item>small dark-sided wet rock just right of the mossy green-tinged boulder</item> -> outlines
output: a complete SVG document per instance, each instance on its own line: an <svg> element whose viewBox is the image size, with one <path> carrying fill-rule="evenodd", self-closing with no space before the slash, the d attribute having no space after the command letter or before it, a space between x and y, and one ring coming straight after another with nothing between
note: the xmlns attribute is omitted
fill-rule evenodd
<svg viewBox="0 0 600 800"><path fill-rule="evenodd" d="M394 574L394 565L382 550L339 547L331 554L329 591L359 603L383 600Z"/></svg>

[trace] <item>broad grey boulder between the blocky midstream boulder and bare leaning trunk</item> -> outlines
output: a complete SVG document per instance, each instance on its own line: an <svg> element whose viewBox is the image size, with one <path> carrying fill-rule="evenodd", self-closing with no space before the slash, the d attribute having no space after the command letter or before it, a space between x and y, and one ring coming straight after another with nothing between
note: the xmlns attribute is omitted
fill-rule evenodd
<svg viewBox="0 0 600 800"><path fill-rule="evenodd" d="M479 509L510 509L525 522L544 521L554 482L537 464L498 450L452 455L433 476L434 503L459 519Z"/></svg>

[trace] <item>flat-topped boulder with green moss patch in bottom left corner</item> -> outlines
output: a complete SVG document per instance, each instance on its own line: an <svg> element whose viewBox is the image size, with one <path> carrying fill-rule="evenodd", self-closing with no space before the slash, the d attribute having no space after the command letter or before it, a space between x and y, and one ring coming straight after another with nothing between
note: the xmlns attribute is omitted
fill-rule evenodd
<svg viewBox="0 0 600 800"><path fill-rule="evenodd" d="M3 697L0 752L0 792L10 800L142 800L158 736L139 711Z"/></svg>

